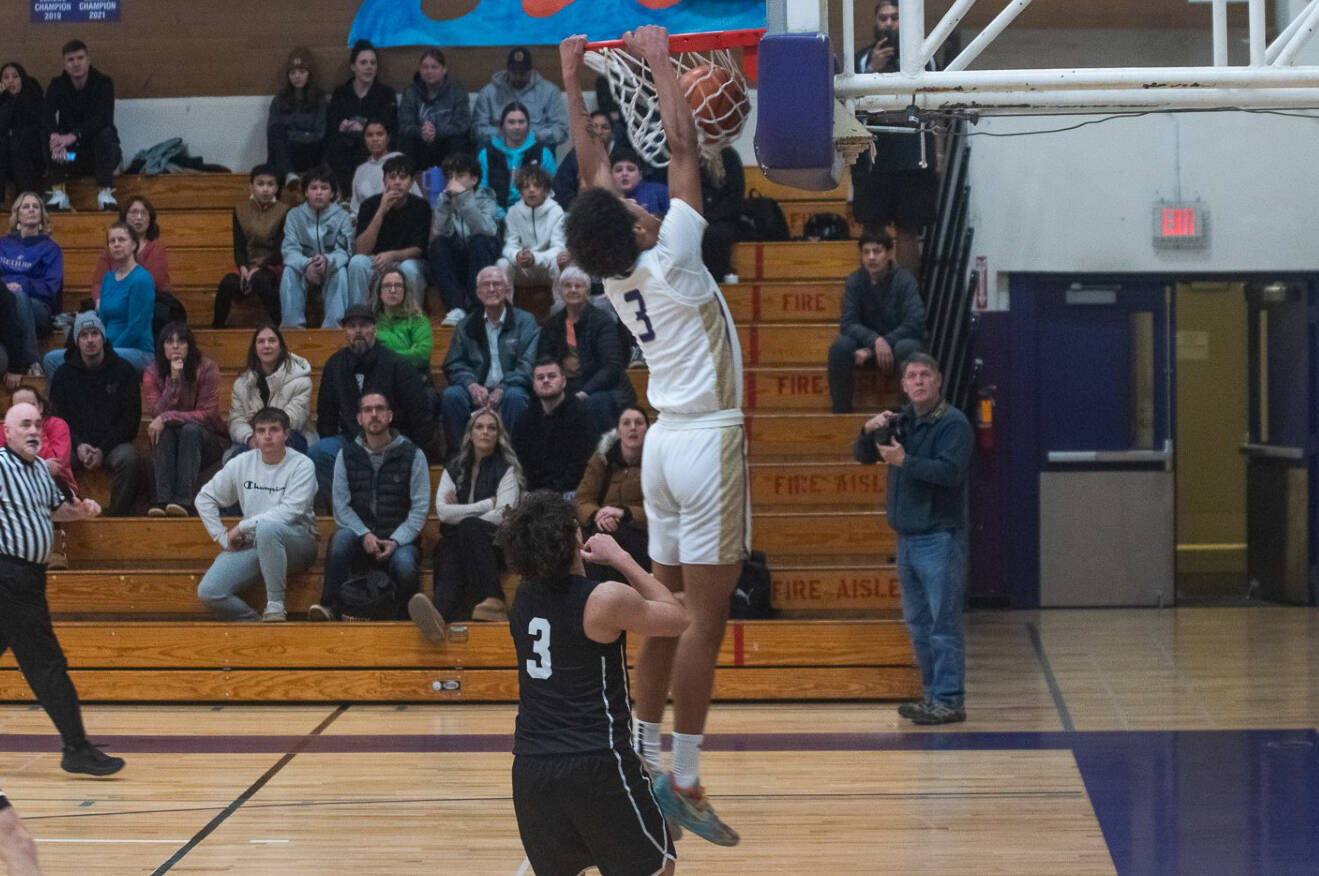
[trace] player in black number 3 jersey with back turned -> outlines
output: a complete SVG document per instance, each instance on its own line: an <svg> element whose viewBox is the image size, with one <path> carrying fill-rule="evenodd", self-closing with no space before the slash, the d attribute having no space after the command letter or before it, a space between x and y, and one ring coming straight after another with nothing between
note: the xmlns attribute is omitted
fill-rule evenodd
<svg viewBox="0 0 1319 876"><path fill-rule="evenodd" d="M586 545L572 504L529 493L499 534L522 575L509 628L517 648L513 809L537 876L673 873L677 852L632 748L627 633L677 636L682 603L608 536ZM628 583L583 577L583 561ZM630 586L629 586L630 584Z"/></svg>

